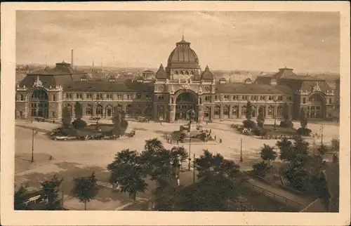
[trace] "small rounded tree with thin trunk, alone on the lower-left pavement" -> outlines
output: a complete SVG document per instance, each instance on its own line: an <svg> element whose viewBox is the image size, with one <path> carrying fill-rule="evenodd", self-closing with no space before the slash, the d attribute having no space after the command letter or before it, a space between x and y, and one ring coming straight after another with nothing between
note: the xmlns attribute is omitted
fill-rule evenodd
<svg viewBox="0 0 351 226"><path fill-rule="evenodd" d="M74 187L72 194L79 201L84 202L84 210L86 210L86 203L98 194L98 180L95 177L95 172L91 173L88 177L74 178L73 181Z"/></svg>

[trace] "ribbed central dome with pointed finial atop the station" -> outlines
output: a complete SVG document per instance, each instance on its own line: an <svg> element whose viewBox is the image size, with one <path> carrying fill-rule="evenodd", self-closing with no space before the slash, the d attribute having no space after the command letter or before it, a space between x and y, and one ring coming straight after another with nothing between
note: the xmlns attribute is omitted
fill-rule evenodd
<svg viewBox="0 0 351 226"><path fill-rule="evenodd" d="M168 58L168 69L199 69L199 59L195 51L190 48L190 42L177 42L176 48Z"/></svg>

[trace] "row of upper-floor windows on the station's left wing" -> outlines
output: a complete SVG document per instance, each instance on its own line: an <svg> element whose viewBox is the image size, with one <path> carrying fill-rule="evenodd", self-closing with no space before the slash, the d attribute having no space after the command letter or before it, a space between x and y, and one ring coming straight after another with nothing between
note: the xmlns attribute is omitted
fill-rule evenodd
<svg viewBox="0 0 351 226"><path fill-rule="evenodd" d="M65 100L69 99L95 99L95 100L131 100L131 99L141 99L142 95L141 93L136 93L134 94L113 94L113 93L65 93ZM151 94L146 94L145 95L146 99L151 100L152 95Z"/></svg>

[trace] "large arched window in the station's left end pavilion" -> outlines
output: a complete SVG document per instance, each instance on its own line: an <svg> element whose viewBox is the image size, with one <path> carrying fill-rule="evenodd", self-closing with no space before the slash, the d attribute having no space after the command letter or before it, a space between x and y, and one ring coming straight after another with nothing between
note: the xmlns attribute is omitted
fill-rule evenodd
<svg viewBox="0 0 351 226"><path fill-rule="evenodd" d="M29 93L29 111L31 117L48 118L48 93L44 89L35 89Z"/></svg>

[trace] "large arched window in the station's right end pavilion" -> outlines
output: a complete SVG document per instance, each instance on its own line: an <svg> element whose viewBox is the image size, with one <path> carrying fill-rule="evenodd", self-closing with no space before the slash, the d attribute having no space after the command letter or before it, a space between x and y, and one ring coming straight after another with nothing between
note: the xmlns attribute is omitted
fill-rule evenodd
<svg viewBox="0 0 351 226"><path fill-rule="evenodd" d="M307 102L307 118L324 119L325 117L325 98L322 93L313 93Z"/></svg>

